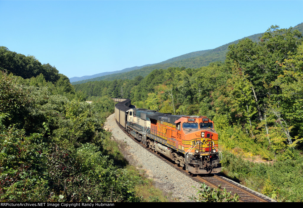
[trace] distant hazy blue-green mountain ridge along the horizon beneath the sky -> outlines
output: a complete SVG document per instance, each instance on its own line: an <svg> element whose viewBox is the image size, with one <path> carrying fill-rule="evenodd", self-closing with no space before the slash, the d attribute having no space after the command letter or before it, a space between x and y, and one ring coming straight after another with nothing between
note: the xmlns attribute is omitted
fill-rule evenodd
<svg viewBox="0 0 303 208"><path fill-rule="evenodd" d="M296 25L294 30L298 30L301 33L303 33L303 23ZM72 84L81 84L88 81L99 81L99 80L114 80L114 79L133 79L138 75L141 75L145 77L148 75L151 71L155 69L167 69L169 67L185 67L185 68L200 68L202 66L208 66L209 63L221 61L223 62L225 60L225 54L228 50L228 46L232 44L237 44L240 40L243 40L245 38L249 38L252 41L258 42L259 37L261 37L263 33L258 33L255 35L250 35L248 37L244 37L241 39L238 39L236 41L230 42L228 44L222 45L218 48L204 50L204 51L195 51L188 54L184 54L181 56L177 56L175 58L168 59L166 61L162 61L160 63L156 64L147 64L142 67L137 67L137 69L133 69L133 71L128 70L127 72L121 70L121 73L111 73L107 75L103 75L102 77L95 76L91 79L81 80L72 82L72 78L70 79ZM135 67L134 67L135 68ZM132 69L132 68L127 68ZM110 72L104 72L104 73L110 73ZM101 73L102 74L102 73ZM97 74L95 74L97 75ZM94 76L94 75L92 75Z"/></svg>

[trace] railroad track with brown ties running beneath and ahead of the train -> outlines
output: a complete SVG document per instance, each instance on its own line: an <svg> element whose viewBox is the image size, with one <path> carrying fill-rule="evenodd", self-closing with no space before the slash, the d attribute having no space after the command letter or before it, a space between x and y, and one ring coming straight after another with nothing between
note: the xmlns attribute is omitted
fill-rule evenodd
<svg viewBox="0 0 303 208"><path fill-rule="evenodd" d="M118 124L118 122L116 121ZM274 202L274 200L270 200L262 196L260 193L251 191L247 187L239 186L237 183L235 183L232 180L229 180L220 174L208 174L208 175L195 175L188 173L187 170L184 170L182 167L179 167L177 164L175 164L172 160L166 158L165 156L162 156L161 154L158 154L154 150L151 150L147 147L145 147L144 144L136 140L131 134L128 134L119 124L118 126L128 135L128 137L132 138L138 145L144 147L146 150L148 150L151 154L155 155L171 167L175 168L176 170L180 171L181 173L187 175L192 180L195 180L199 183L205 183L209 187L218 188L219 185L221 185L221 190L224 188L227 192L231 192L231 194L234 196L235 193L237 193L240 196L239 202Z"/></svg>

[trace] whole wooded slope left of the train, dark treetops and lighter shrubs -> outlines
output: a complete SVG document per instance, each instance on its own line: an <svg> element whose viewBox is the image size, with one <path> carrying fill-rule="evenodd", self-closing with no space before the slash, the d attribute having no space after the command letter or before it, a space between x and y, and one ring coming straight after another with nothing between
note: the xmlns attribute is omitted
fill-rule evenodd
<svg viewBox="0 0 303 208"><path fill-rule="evenodd" d="M65 75L33 56L0 47L0 60L1 202L160 201L140 196L152 182L126 169L102 129L112 99L82 101Z"/></svg>

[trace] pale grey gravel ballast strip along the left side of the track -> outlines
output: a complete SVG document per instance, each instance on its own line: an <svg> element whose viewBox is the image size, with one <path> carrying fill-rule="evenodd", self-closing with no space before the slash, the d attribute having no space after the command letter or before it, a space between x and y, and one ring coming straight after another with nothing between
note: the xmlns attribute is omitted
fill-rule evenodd
<svg viewBox="0 0 303 208"><path fill-rule="evenodd" d="M192 186L199 188L201 186L200 183L185 176L135 143L118 127L115 121L115 114L107 118L104 128L112 132L115 140L122 141L123 143L126 142L128 145L126 149L132 154L133 159L136 160L137 166L146 170L148 176L155 181L161 190L171 193L172 198L181 202L189 202L191 200L187 196L196 195L198 191Z"/></svg>

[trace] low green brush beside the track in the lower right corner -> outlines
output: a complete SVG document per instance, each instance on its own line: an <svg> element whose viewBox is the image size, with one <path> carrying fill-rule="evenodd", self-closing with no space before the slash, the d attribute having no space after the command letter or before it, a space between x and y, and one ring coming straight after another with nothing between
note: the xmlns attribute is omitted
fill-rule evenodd
<svg viewBox="0 0 303 208"><path fill-rule="evenodd" d="M277 159L272 164L253 163L224 152L222 166L229 177L260 193L271 196L278 190L280 199L302 201L302 153L291 148Z"/></svg>

